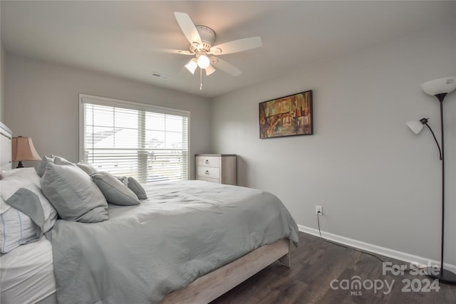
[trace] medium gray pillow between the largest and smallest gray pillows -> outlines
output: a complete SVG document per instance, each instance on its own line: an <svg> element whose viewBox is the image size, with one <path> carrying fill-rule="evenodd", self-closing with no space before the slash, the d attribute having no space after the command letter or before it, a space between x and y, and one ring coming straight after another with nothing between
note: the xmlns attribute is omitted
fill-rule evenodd
<svg viewBox="0 0 456 304"><path fill-rule="evenodd" d="M106 200L115 205L138 205L138 197L125 184L108 172L90 174L93 182L98 186Z"/></svg>

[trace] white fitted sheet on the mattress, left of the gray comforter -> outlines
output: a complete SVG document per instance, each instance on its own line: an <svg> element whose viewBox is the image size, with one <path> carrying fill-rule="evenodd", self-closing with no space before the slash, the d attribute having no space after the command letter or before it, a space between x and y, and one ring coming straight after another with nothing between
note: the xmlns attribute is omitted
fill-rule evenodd
<svg viewBox="0 0 456 304"><path fill-rule="evenodd" d="M36 303L56 293L51 243L42 236L0 257L0 302Z"/></svg>

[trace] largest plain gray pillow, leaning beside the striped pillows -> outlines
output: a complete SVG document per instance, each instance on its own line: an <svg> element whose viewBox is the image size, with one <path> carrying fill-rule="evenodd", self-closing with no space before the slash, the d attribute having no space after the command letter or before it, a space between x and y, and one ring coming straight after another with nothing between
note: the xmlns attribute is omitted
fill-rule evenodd
<svg viewBox="0 0 456 304"><path fill-rule="evenodd" d="M97 223L108 219L108 202L92 179L76 165L48 163L41 190L66 221Z"/></svg>

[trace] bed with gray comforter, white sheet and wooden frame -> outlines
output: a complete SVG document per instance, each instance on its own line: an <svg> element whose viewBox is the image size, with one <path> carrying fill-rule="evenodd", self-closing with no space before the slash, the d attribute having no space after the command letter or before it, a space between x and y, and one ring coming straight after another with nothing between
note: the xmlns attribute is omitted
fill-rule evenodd
<svg viewBox="0 0 456 304"><path fill-rule="evenodd" d="M36 186L32 170L21 174ZM17 175L2 171L1 182ZM276 196L203 181L143 189L140 204L108 204L105 221L44 221L39 237L1 256L1 303L209 303L277 260L290 265L297 226ZM8 197L16 206L2 188Z"/></svg>

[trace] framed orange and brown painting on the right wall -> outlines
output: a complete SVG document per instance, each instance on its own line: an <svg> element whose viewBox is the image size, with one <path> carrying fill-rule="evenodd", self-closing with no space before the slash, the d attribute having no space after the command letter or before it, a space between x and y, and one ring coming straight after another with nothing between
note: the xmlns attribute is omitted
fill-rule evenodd
<svg viewBox="0 0 456 304"><path fill-rule="evenodd" d="M259 104L259 138L312 134L312 90Z"/></svg>

